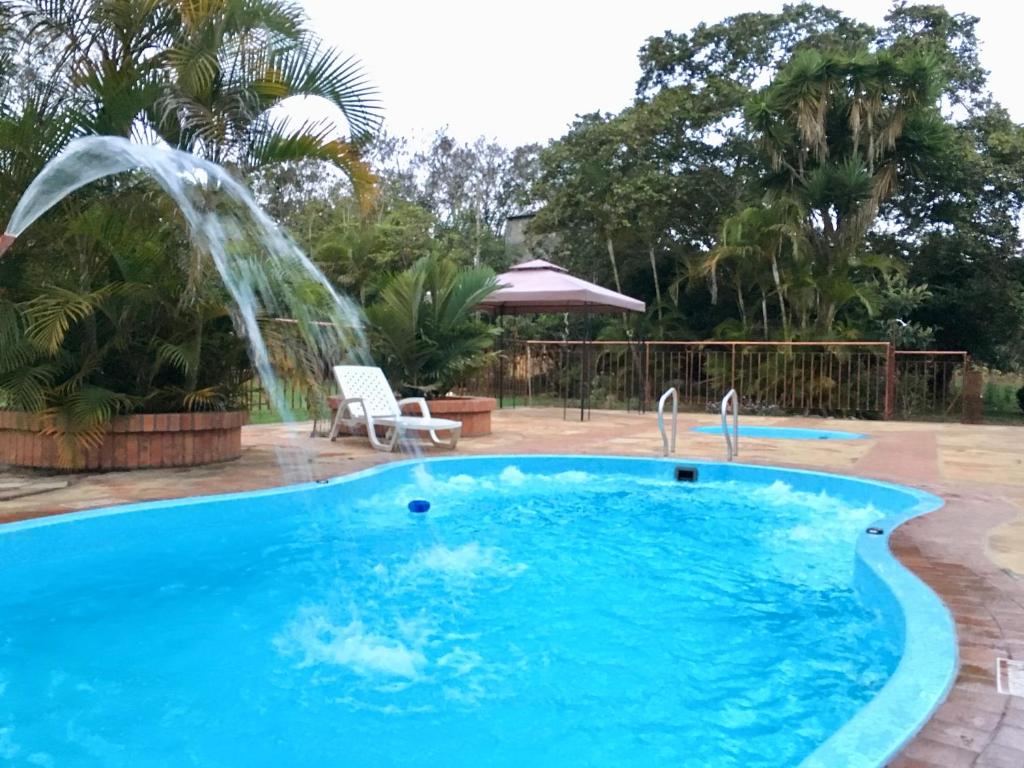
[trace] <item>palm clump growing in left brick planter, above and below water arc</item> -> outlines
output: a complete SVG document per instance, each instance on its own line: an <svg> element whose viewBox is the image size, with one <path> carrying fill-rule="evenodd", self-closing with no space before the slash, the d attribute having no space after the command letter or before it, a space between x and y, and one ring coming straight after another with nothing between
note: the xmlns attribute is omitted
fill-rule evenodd
<svg viewBox="0 0 1024 768"><path fill-rule="evenodd" d="M0 18L0 220L77 136L165 143L240 178L313 159L356 191L378 121L355 62L326 46L286 0L53 0L4 3ZM328 124L287 125L274 108L327 99ZM203 194L220 205L215 189ZM0 260L0 407L41 412L69 445L119 413L238 407L251 376L236 308L204 244L147 179L83 187ZM304 360L268 327L279 362Z"/></svg>

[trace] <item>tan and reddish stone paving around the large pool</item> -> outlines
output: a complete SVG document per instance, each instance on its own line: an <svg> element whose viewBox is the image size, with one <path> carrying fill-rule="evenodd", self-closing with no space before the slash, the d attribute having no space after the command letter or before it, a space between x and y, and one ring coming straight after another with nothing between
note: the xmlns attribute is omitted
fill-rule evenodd
<svg viewBox="0 0 1024 768"><path fill-rule="evenodd" d="M659 456L652 415L595 411L563 421L558 409L495 415L494 433L463 439L459 454ZM680 415L677 454L719 460L721 435L689 432L712 416ZM751 464L817 469L914 485L943 497L940 510L902 525L892 547L949 606L961 668L946 701L892 768L1024 768L1024 697L998 693L997 657L1024 659L1024 428L823 419L756 419L744 424L845 429L866 440L741 438ZM237 462L187 469L68 475L66 487L38 474L0 471L0 521L151 499L248 490L330 477L408 456L373 452L366 438L309 437L309 425L246 427ZM449 455L425 449L424 456ZM283 459L289 471L283 472ZM19 495L19 484L32 493ZM39 488L43 488L39 490ZM842 768L837 766L837 768Z"/></svg>

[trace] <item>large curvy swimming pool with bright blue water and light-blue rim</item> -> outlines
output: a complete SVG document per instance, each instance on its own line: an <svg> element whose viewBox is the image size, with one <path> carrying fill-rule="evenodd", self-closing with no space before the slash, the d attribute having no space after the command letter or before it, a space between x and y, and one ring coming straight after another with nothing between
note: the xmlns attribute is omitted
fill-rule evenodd
<svg viewBox="0 0 1024 768"><path fill-rule="evenodd" d="M881 765L955 665L887 547L940 502L678 464L432 460L2 526L0 758Z"/></svg>

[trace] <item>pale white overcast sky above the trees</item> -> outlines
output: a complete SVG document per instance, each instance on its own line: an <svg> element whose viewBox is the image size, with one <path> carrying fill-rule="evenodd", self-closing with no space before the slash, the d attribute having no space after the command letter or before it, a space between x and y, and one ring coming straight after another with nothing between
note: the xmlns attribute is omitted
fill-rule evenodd
<svg viewBox="0 0 1024 768"><path fill-rule="evenodd" d="M560 136L578 114L626 106L639 76L637 52L647 37L782 6L765 0L303 4L317 32L361 59L380 90L389 133L419 143L447 126L458 138L482 135L508 146ZM880 24L890 7L886 0L827 4L869 24ZM1024 121L1021 4L945 5L981 18L978 36L989 85L1014 119Z"/></svg>

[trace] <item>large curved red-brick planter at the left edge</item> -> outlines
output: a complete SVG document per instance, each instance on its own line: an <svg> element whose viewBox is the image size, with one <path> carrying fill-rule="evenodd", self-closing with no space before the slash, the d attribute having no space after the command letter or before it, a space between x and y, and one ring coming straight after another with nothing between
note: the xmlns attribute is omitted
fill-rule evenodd
<svg viewBox="0 0 1024 768"><path fill-rule="evenodd" d="M57 441L42 434L34 414L0 411L0 465L38 469L145 469L193 467L242 455L245 411L139 414L115 419L96 449L79 451L73 467L57 461Z"/></svg>

